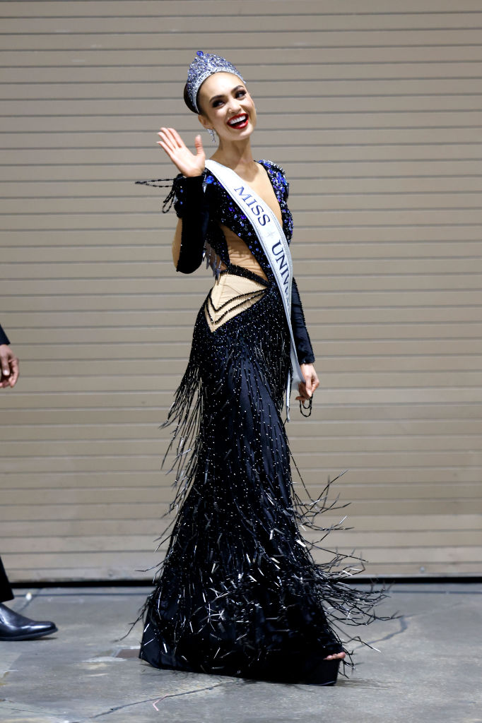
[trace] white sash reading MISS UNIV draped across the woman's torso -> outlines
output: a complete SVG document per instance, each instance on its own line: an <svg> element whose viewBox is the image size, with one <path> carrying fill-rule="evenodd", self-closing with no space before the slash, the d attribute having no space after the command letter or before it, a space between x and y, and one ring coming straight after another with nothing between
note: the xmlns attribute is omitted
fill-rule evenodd
<svg viewBox="0 0 482 723"><path fill-rule="evenodd" d="M284 236L284 231L279 224L276 214L256 194L250 186L237 175L232 168L223 166L217 161L206 161L206 168L216 176L218 181L227 190L232 200L240 207L242 213L249 219L253 226L256 236L261 244L261 248L266 254L271 270L276 278L279 293L283 299L284 313L288 322L290 337L290 359L292 366L293 378L288 372L287 393L286 393L286 411L289 421L289 393L291 391L291 382L298 384L304 382L303 372L300 369L296 354L295 338L291 326L291 290L293 280L293 266L291 254L289 252L288 241Z"/></svg>

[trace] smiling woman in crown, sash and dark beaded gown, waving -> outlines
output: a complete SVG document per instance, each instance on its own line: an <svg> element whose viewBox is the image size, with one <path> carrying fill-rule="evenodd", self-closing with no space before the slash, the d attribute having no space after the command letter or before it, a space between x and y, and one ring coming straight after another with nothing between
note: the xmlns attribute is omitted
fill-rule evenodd
<svg viewBox="0 0 482 723"><path fill-rule="evenodd" d="M200 136L193 154L174 129L159 133L180 171L174 265L191 273L204 257L216 282L166 422L176 424L178 515L145 604L140 657L161 668L333 685L347 651L324 605L332 625L367 623L383 594L330 576L339 557L316 565L299 529L326 534L316 523L326 497L295 494L282 421L291 378L305 408L319 384L286 246L287 180L274 163L253 160L255 105L232 64L199 52L185 100L219 145L206 161Z"/></svg>

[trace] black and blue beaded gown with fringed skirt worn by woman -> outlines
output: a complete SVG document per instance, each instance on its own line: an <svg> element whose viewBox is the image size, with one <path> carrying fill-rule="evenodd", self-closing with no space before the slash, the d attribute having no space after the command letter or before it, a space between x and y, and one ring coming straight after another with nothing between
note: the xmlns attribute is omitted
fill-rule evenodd
<svg viewBox="0 0 482 723"><path fill-rule="evenodd" d="M261 164L290 241L284 172ZM248 219L209 171L199 183L202 208L179 176L174 181L193 266L186 270L204 253L217 281L166 422L174 425L177 517L145 604L140 657L159 668L309 683L319 662L343 650L339 622L371 622L384 595L344 583L339 555L313 560L303 529L322 539L318 513L329 505L324 496L310 499L302 482L293 486L282 420L290 364L282 299ZM266 278L232 264L220 224L245 241ZM300 363L313 361L295 282L292 326Z"/></svg>

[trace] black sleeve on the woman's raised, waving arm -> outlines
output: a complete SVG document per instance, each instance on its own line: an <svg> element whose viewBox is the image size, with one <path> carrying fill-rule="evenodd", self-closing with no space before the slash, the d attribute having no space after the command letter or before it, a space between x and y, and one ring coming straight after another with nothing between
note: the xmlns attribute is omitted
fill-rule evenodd
<svg viewBox="0 0 482 723"><path fill-rule="evenodd" d="M181 248L176 270L193 273L203 261L204 241L209 221L209 207L203 192L202 176L177 176L174 179L174 209L182 219Z"/></svg>

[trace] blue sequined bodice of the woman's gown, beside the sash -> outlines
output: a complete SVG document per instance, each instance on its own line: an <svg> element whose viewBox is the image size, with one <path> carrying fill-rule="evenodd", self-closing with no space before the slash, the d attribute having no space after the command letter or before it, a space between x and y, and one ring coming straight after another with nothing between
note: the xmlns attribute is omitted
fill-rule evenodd
<svg viewBox="0 0 482 723"><path fill-rule="evenodd" d="M266 168L271 185L279 202L279 208L282 213L283 230L287 237L287 241L291 241L293 231L292 215L287 206L287 197L289 192L289 184L284 175L284 171L276 163L271 161L259 161ZM240 208L229 196L224 187L221 186L216 176L209 171L206 173L205 179L206 197L209 202L209 222L206 234L206 245L211 247L224 268L229 266L229 250L227 241L223 231L219 227L219 223L230 228L236 236L245 241L250 252L253 254L259 265L263 269L268 278L273 278L269 262L258 241L258 236L248 220L242 213Z"/></svg>

